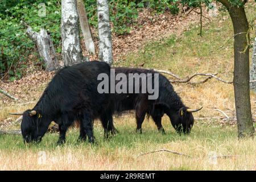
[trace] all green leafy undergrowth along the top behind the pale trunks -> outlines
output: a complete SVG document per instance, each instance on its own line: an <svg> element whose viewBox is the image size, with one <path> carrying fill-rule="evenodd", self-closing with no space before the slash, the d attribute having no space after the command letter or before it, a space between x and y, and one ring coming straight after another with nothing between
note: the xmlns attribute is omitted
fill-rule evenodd
<svg viewBox="0 0 256 182"><path fill-rule="evenodd" d="M110 0L110 21L114 25L113 32L129 33L130 24L134 23L138 17L138 11L143 7L153 9L157 13L170 11L172 14L177 14L179 12L177 1ZM42 10L40 3L46 6L46 16L39 16L39 11ZM86 0L84 3L89 23L97 28L97 1ZM51 35L56 52L61 52L60 15L61 0L2 0L0 5L0 77L7 76L9 80L20 78L22 65L27 63L28 55L35 52L34 43L26 35L26 24L34 31L45 28Z"/></svg>

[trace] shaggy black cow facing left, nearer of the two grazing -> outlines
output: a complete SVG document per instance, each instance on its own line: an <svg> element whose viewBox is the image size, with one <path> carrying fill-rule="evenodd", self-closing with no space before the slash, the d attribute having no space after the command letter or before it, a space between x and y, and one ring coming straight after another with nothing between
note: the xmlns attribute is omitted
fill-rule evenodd
<svg viewBox="0 0 256 182"><path fill-rule="evenodd" d="M94 142L93 119L100 117L105 133L114 132L106 111L109 94L97 92L97 76L110 74L108 64L100 61L80 63L61 69L49 82L33 109L23 113L21 130L26 142L40 142L51 121L59 124L58 143L65 142L65 133L73 121L80 121L79 139ZM107 127L108 125L108 127Z"/></svg>

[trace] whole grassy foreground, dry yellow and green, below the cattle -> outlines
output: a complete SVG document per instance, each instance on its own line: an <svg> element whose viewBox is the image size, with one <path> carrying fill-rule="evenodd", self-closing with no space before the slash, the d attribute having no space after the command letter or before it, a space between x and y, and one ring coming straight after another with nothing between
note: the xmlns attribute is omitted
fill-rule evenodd
<svg viewBox="0 0 256 182"><path fill-rule="evenodd" d="M56 135L48 134L43 144L27 146L18 138L0 144L1 170L255 170L255 139L237 140L236 128L218 127L197 123L193 133L180 137L170 130L164 117L167 135L158 134L152 121L143 125L144 133L135 134L135 120L130 117L115 119L120 133L109 142L101 140L102 129L96 125L98 144L77 144L76 131L68 134L69 141L63 147L53 146ZM129 127L130 126L130 127ZM217 133L217 134L216 134ZM154 137L152 137L152 135ZM72 138L72 139L71 139ZM130 138L130 139L126 139ZM154 138L159 140L154 142ZM164 139L163 139L164 138ZM2 138L3 139L3 138ZM0 138L0 140L2 140ZM3 148L7 143L12 147ZM14 144L16 143L16 144ZM168 152L142 155L143 152L167 148L191 156L179 156ZM228 158L214 158L229 156Z"/></svg>

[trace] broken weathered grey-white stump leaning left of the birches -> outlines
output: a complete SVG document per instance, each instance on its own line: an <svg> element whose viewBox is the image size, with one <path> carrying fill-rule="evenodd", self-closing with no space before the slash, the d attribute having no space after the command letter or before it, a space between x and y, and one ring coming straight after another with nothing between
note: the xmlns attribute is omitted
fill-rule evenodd
<svg viewBox="0 0 256 182"><path fill-rule="evenodd" d="M42 57L44 63L46 64L46 70L52 71L59 66L57 61L55 49L53 47L51 37L47 34L47 31L43 28L40 32L32 31L31 27L27 28L27 35L36 44L39 56Z"/></svg>

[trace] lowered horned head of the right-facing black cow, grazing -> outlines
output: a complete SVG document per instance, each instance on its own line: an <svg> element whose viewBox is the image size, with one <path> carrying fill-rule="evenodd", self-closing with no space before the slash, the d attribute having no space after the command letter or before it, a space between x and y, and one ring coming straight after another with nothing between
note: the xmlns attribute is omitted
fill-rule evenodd
<svg viewBox="0 0 256 182"><path fill-rule="evenodd" d="M177 133L189 134L194 124L194 117L192 113L201 110L189 109L188 107L181 107L179 110L172 112L169 117L171 118L172 126L174 126Z"/></svg>

